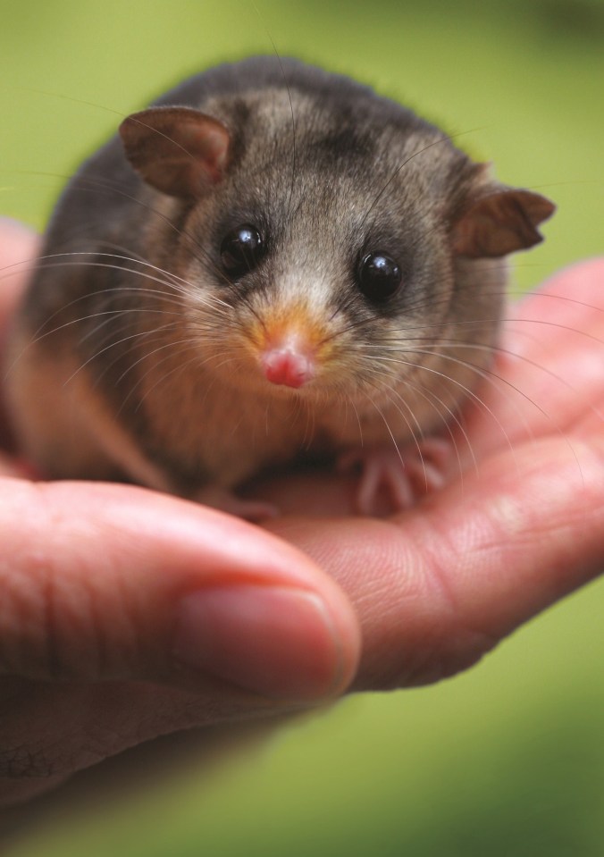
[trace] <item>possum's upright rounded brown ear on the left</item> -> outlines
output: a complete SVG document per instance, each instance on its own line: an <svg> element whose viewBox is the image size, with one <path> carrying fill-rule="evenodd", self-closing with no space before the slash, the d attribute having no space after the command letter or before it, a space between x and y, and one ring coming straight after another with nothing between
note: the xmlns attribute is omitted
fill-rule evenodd
<svg viewBox="0 0 604 857"><path fill-rule="evenodd" d="M190 107L150 107L120 125L126 157L148 184L172 197L198 197L221 181L231 135Z"/></svg>

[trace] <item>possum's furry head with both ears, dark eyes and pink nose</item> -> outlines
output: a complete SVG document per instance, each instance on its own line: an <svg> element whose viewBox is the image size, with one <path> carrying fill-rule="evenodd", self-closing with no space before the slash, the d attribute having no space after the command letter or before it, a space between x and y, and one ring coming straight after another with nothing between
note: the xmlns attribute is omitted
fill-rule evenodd
<svg viewBox="0 0 604 857"><path fill-rule="evenodd" d="M174 200L186 324L225 382L269 396L358 400L429 371L455 402L454 360L484 365L463 348L493 344L500 257L541 240L554 206L406 108L321 81L122 123L130 164Z"/></svg>

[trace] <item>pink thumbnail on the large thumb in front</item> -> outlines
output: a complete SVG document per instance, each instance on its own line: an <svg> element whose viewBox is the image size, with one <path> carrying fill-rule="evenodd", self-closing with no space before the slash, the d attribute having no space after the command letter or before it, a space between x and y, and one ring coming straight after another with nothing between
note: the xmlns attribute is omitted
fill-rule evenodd
<svg viewBox="0 0 604 857"><path fill-rule="evenodd" d="M180 604L174 655L233 685L281 700L314 700L338 685L341 651L313 592L232 586Z"/></svg>

